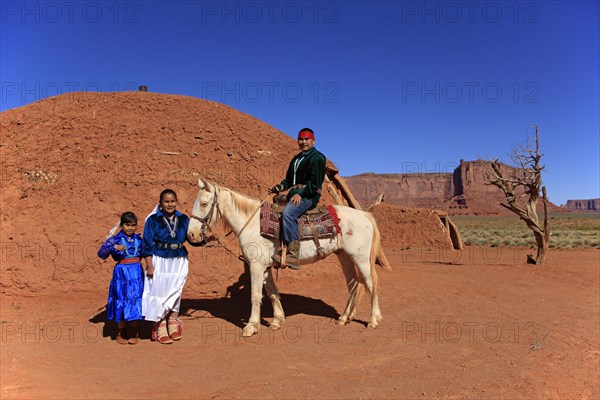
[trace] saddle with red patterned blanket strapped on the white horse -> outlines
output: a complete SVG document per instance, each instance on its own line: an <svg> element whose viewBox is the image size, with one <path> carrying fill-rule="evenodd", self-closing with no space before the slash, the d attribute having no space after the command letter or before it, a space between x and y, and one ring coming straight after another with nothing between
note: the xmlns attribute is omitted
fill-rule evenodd
<svg viewBox="0 0 600 400"><path fill-rule="evenodd" d="M260 207L260 234L281 239L281 213L287 204L285 195L275 196L275 203L264 202ZM335 208L330 205L313 208L298 218L299 239L313 240L319 253L319 239L335 237L340 233L340 220Z"/></svg>

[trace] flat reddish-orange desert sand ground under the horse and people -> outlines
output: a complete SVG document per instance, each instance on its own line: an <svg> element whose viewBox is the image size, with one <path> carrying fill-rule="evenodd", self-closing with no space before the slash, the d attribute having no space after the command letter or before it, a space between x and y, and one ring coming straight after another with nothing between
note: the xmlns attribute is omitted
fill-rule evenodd
<svg viewBox="0 0 600 400"><path fill-rule="evenodd" d="M108 282L70 296L2 295L0 397L600 397L598 250L554 250L545 266L522 263L525 249L386 252L394 270L378 271L375 330L366 298L356 321L336 325L346 289L335 263L281 271L286 324L268 330L265 301L252 338L240 337L244 290L188 292L183 340L151 342L144 326L135 346L116 344L99 311ZM311 268L326 279L311 280Z"/></svg>

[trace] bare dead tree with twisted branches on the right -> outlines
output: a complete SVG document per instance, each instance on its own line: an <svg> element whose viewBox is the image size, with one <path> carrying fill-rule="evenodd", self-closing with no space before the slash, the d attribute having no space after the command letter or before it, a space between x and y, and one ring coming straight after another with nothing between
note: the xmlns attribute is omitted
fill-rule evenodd
<svg viewBox="0 0 600 400"><path fill-rule="evenodd" d="M483 161L486 166L486 185L493 185L504 194L504 203L501 206L517 214L527 227L533 231L537 245L535 259L528 257L529 263L544 264L546 252L550 243L550 226L548 224L548 196L546 187L542 184L542 171L544 166L540 161L539 131L535 127L535 143L528 138L525 145L516 145L513 148L511 159L514 168L503 168L497 158ZM544 220L540 222L537 213L537 203L542 194L544 206Z"/></svg>

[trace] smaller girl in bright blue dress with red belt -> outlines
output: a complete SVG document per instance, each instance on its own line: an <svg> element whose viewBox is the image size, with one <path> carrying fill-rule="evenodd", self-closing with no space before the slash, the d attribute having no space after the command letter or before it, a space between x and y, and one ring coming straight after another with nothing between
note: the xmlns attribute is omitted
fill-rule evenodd
<svg viewBox="0 0 600 400"><path fill-rule="evenodd" d="M98 250L98 257L109 255L117 261L110 281L106 317L117 323L117 343L137 344L139 336L136 321L142 319L144 274L140 253L142 239L135 233L137 217L128 211L121 215L121 231L109 237ZM125 331L126 322L129 322Z"/></svg>

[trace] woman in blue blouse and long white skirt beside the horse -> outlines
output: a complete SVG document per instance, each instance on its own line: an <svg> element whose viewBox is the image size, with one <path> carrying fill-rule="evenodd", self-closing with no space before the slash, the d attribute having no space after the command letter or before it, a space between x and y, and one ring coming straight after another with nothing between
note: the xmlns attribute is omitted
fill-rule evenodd
<svg viewBox="0 0 600 400"><path fill-rule="evenodd" d="M189 218L177 211L177 194L165 189L156 212L146 218L142 257L146 279L142 314L153 321L152 338L170 344L180 340L183 325L178 319L181 292L187 279L187 250L183 246Z"/></svg>

